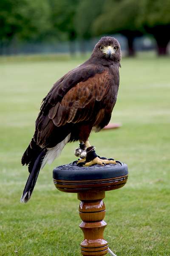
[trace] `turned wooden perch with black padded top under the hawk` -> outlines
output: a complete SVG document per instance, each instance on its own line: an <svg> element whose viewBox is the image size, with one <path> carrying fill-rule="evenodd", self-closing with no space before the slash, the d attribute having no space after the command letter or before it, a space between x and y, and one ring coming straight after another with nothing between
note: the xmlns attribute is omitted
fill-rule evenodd
<svg viewBox="0 0 170 256"><path fill-rule="evenodd" d="M125 163L116 165L78 167L67 164L53 170L54 185L62 192L77 193L81 201L79 227L84 233L80 244L85 256L103 256L108 253L108 242L103 238L106 227L105 191L119 189L127 182L128 170ZM109 253L112 253L111 250ZM114 255L111 254L111 255Z"/></svg>

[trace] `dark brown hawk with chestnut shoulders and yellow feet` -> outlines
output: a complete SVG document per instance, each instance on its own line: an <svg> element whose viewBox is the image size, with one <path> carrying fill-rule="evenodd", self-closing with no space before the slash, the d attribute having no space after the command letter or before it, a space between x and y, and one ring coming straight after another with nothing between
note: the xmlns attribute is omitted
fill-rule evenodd
<svg viewBox="0 0 170 256"><path fill-rule="evenodd" d="M68 142L79 141L77 164L116 164L97 156L88 138L108 125L119 88L120 44L113 37L102 37L91 57L62 76L42 100L34 136L23 154L29 177L21 197L31 197L40 169L59 156ZM85 154L83 154L83 152Z"/></svg>

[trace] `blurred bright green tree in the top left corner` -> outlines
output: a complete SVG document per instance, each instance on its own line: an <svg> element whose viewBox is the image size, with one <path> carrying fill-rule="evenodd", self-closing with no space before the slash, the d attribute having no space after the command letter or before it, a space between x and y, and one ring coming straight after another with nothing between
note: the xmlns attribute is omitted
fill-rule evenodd
<svg viewBox="0 0 170 256"><path fill-rule="evenodd" d="M47 0L0 0L0 42L38 40L49 29Z"/></svg>

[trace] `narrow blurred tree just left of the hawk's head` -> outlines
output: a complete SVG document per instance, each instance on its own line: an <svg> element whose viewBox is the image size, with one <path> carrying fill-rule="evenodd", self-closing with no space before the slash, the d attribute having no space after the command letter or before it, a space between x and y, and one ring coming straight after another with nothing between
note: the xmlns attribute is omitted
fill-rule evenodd
<svg viewBox="0 0 170 256"><path fill-rule="evenodd" d="M75 28L80 39L80 50L85 52L84 40L93 37L91 24L102 12L103 0L81 0L75 16Z"/></svg>

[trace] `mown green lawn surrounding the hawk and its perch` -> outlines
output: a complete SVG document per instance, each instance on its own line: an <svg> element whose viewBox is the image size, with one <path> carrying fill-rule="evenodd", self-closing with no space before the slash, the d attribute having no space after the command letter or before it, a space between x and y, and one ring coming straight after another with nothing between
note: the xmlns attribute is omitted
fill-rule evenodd
<svg viewBox="0 0 170 256"><path fill-rule="evenodd" d="M20 204L28 172L20 158L34 132L41 99L83 59L0 58L0 256L78 256L82 231L76 194L59 192L54 166L75 159L69 144L40 172L31 201ZM170 256L170 59L122 59L112 122L91 134L99 155L127 163L124 188L107 192L105 239L117 256ZM17 253L16 253L17 252Z"/></svg>

